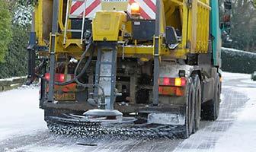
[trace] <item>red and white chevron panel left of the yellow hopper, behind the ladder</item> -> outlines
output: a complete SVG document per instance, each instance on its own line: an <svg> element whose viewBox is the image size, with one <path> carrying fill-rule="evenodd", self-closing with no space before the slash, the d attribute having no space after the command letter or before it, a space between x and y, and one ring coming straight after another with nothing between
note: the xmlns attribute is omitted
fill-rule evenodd
<svg viewBox="0 0 256 152"><path fill-rule="evenodd" d="M101 0L86 0L85 2L72 2L70 15L74 17L82 17L84 10L85 17L94 17L97 11L101 11Z"/></svg>

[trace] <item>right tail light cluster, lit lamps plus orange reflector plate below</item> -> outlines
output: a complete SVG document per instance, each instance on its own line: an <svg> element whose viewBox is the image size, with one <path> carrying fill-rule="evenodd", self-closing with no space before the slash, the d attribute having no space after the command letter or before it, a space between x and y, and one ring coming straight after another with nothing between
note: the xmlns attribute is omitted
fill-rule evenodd
<svg viewBox="0 0 256 152"><path fill-rule="evenodd" d="M158 92L166 96L184 96L186 78L159 78Z"/></svg>

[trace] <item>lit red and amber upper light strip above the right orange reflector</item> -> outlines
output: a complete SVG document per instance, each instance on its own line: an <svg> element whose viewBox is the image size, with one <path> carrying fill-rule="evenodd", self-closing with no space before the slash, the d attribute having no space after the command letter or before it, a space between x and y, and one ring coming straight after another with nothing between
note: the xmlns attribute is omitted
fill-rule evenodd
<svg viewBox="0 0 256 152"><path fill-rule="evenodd" d="M186 78L159 78L160 86L184 87L186 83Z"/></svg>

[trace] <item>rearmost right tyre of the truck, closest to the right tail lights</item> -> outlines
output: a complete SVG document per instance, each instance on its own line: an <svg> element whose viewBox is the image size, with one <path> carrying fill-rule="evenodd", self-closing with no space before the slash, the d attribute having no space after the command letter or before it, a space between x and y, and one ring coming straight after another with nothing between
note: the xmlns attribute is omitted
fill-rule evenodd
<svg viewBox="0 0 256 152"><path fill-rule="evenodd" d="M194 128L194 83L190 80L190 84L188 84L187 87L186 120L182 138L189 138Z"/></svg>

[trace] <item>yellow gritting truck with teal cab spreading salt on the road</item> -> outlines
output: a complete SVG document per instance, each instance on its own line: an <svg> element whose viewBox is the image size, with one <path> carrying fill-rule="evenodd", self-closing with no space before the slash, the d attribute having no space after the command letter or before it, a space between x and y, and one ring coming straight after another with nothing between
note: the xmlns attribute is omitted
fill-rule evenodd
<svg viewBox="0 0 256 152"><path fill-rule="evenodd" d="M106 124L151 126L149 131L164 126L154 136L175 126L188 138L201 118L217 119L219 5L216 0L38 0L28 69L30 81L40 78L40 108L50 131L58 131L59 124L80 125L77 131L85 135L110 130ZM92 124L96 129L89 129Z"/></svg>

